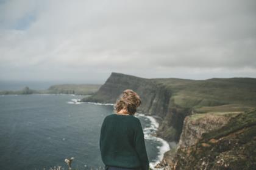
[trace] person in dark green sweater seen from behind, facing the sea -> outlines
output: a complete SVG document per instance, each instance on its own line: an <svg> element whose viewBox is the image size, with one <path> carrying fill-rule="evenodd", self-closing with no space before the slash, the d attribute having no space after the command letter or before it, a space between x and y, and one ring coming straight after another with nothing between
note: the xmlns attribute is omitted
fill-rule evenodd
<svg viewBox="0 0 256 170"><path fill-rule="evenodd" d="M134 116L140 96L127 89L114 105L115 113L105 116L99 146L107 170L148 170L149 160L140 119Z"/></svg>

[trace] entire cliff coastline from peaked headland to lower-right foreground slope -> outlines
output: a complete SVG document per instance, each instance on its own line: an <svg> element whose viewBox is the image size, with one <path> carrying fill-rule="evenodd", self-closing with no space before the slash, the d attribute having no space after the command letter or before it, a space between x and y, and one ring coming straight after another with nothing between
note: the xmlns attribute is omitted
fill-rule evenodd
<svg viewBox="0 0 256 170"><path fill-rule="evenodd" d="M177 149L165 152L165 169L256 167L256 79L144 79L112 73L82 101L115 103L127 88L141 97L138 112L159 118L157 136L179 141Z"/></svg>

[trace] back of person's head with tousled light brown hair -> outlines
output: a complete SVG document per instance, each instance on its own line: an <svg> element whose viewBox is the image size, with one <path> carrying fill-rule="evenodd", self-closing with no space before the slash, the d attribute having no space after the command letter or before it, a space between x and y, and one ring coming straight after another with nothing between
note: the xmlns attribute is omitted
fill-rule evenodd
<svg viewBox="0 0 256 170"><path fill-rule="evenodd" d="M134 115L137 108L141 105L140 96L130 89L126 89L120 94L116 100L115 112L119 112L122 109L126 109L129 115Z"/></svg>

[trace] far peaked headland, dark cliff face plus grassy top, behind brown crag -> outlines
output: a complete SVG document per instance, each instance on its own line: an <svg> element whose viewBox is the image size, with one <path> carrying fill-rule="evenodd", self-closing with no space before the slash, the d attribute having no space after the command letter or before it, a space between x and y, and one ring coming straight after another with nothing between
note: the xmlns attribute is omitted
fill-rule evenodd
<svg viewBox="0 0 256 170"><path fill-rule="evenodd" d="M256 105L256 79L145 79L121 73L112 73L95 94L82 101L115 103L127 88L141 97L138 112L159 118L157 135L167 141L179 141L183 120L195 112L229 110L230 104L235 109Z"/></svg>

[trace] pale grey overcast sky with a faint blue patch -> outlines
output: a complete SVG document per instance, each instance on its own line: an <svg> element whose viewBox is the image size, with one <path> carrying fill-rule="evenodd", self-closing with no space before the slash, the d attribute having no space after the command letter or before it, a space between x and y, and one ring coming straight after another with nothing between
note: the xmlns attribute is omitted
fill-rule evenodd
<svg viewBox="0 0 256 170"><path fill-rule="evenodd" d="M256 77L255 21L255 0L0 0L0 79Z"/></svg>

